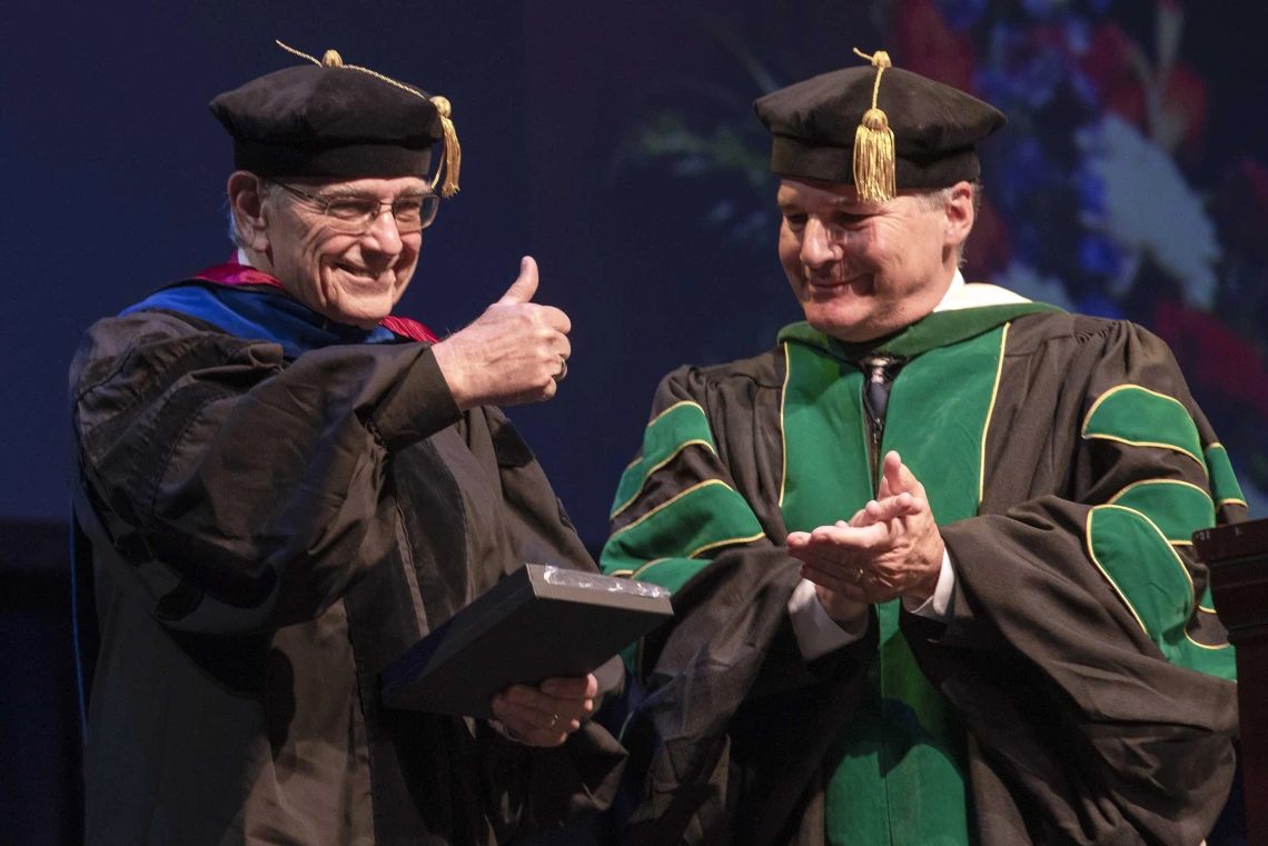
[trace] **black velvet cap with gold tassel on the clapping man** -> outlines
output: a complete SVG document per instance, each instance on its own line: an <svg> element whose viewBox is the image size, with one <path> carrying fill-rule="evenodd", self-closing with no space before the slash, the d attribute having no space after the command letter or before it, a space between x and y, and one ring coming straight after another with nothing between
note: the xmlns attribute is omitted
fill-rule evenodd
<svg viewBox="0 0 1268 846"><path fill-rule="evenodd" d="M978 179L975 144L1004 125L1003 113L891 67L884 51L858 54L871 66L823 73L753 103L775 136L771 170L852 184L861 198L880 201L898 189Z"/></svg>

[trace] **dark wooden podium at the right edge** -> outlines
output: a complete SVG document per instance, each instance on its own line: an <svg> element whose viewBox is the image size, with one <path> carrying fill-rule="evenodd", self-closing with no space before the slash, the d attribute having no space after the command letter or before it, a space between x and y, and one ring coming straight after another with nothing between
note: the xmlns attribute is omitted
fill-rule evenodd
<svg viewBox="0 0 1268 846"><path fill-rule="evenodd" d="M1238 650L1246 842L1268 843L1268 519L1194 532L1193 547Z"/></svg>

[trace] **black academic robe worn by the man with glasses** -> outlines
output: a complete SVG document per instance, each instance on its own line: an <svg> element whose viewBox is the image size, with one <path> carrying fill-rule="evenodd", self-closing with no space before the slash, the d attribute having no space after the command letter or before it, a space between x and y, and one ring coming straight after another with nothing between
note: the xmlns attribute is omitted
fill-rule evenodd
<svg viewBox="0 0 1268 846"><path fill-rule="evenodd" d="M503 574L593 567L429 344L289 360L145 310L91 327L70 381L87 843L483 845L607 803L624 750L596 724L543 750L380 702L383 666Z"/></svg>

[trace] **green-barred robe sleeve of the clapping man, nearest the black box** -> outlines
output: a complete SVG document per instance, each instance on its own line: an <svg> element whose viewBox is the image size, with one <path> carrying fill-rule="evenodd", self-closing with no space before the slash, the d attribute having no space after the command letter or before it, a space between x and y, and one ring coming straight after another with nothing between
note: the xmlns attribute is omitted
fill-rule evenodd
<svg viewBox="0 0 1268 846"><path fill-rule="evenodd" d="M858 700L876 624L815 661L801 656L787 610L799 562L784 546L771 466L780 452L754 417L763 400L777 404L779 385L670 374L618 488L600 565L670 588L675 609L633 656L647 693L628 743L637 754L643 728L656 738L631 821L638 843L681 832L697 842L728 826L754 843L790 824L822 833L820 762Z"/></svg>

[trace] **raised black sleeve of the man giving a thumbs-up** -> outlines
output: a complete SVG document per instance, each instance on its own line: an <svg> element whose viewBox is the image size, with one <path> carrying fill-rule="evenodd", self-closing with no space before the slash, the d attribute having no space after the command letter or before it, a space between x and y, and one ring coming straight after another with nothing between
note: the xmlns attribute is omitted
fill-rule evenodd
<svg viewBox="0 0 1268 846"><path fill-rule="evenodd" d="M166 313L96 323L71 366L76 512L165 624L312 619L396 543L393 452L460 419L429 346L273 343Z"/></svg>

